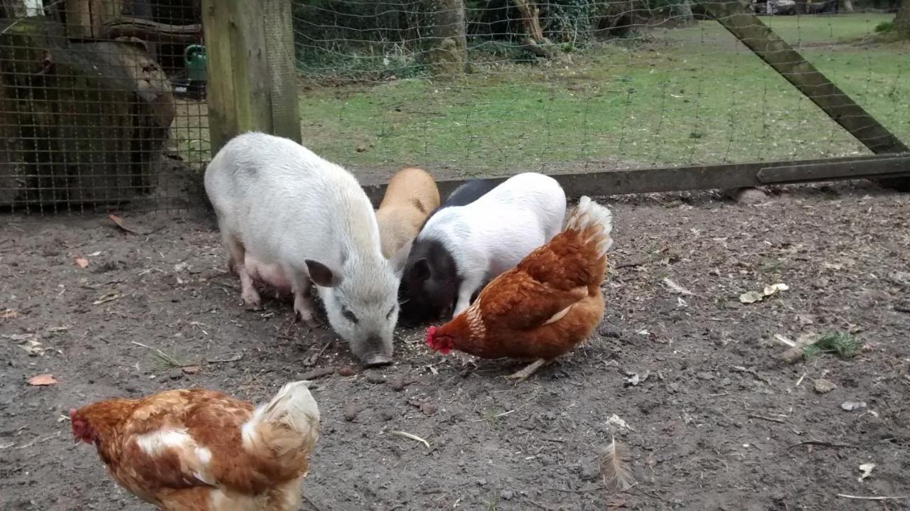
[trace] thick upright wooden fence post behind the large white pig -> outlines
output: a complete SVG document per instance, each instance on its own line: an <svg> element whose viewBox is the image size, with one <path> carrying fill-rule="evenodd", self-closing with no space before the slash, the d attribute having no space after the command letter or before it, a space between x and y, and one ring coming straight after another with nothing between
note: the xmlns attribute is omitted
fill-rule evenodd
<svg viewBox="0 0 910 511"><path fill-rule="evenodd" d="M291 0L202 0L212 155L261 131L300 142Z"/></svg>

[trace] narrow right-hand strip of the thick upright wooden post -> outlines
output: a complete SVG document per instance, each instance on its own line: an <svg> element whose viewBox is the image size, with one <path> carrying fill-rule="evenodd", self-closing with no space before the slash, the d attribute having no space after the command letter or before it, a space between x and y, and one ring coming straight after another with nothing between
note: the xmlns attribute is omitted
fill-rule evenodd
<svg viewBox="0 0 910 511"><path fill-rule="evenodd" d="M299 144L300 110L291 2L265 0L264 11L272 135L284 136Z"/></svg>

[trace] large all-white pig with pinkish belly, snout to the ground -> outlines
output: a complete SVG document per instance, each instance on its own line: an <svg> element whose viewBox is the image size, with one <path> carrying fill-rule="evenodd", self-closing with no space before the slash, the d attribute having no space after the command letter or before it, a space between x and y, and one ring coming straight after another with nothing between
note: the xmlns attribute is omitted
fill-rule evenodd
<svg viewBox="0 0 910 511"><path fill-rule="evenodd" d="M407 253L382 255L376 215L353 175L287 138L246 133L212 158L205 185L245 306L259 306L250 255L287 279L301 319L317 323L315 284L351 351L368 365L391 362Z"/></svg>

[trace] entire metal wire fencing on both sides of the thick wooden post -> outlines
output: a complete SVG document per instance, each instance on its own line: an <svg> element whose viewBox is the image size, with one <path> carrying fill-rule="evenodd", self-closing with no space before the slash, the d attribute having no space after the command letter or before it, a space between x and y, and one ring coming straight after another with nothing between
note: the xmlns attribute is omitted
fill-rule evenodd
<svg viewBox="0 0 910 511"><path fill-rule="evenodd" d="M367 183L870 154L692 0L262 1L292 5L303 144ZM907 141L898 4L747 7ZM201 205L201 9L0 0L0 207Z"/></svg>

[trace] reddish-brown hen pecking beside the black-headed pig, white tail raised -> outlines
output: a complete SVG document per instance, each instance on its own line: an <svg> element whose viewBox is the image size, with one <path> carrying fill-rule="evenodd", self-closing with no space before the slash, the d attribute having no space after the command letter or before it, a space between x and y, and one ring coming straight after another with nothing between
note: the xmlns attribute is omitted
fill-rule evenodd
<svg viewBox="0 0 910 511"><path fill-rule="evenodd" d="M560 234L490 281L459 316L430 326L427 344L443 354L535 360L510 377L531 376L601 322L611 232L610 210L581 197Z"/></svg>

